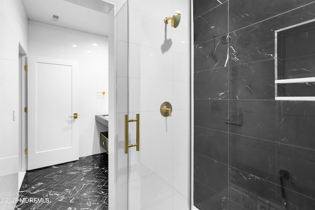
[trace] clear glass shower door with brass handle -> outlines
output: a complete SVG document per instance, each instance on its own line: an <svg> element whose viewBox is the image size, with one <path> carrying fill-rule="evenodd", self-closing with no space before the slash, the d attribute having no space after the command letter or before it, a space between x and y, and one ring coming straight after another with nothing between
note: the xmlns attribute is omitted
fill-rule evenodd
<svg viewBox="0 0 315 210"><path fill-rule="evenodd" d="M189 1L128 0L125 9L128 209L187 210ZM176 12L181 21L173 28L163 19Z"/></svg>

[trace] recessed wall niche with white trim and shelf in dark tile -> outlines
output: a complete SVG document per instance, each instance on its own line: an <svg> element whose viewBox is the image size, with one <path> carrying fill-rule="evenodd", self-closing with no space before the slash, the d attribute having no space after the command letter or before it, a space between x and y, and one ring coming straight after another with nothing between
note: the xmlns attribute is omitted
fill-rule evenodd
<svg viewBox="0 0 315 210"><path fill-rule="evenodd" d="M315 100L315 19L275 31L275 99Z"/></svg>

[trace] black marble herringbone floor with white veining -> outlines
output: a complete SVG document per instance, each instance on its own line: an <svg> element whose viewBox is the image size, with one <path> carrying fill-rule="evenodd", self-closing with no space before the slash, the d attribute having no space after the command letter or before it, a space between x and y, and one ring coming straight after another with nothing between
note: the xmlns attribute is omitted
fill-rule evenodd
<svg viewBox="0 0 315 210"><path fill-rule="evenodd" d="M28 171L19 196L37 200L18 202L16 210L108 210L108 155Z"/></svg>

